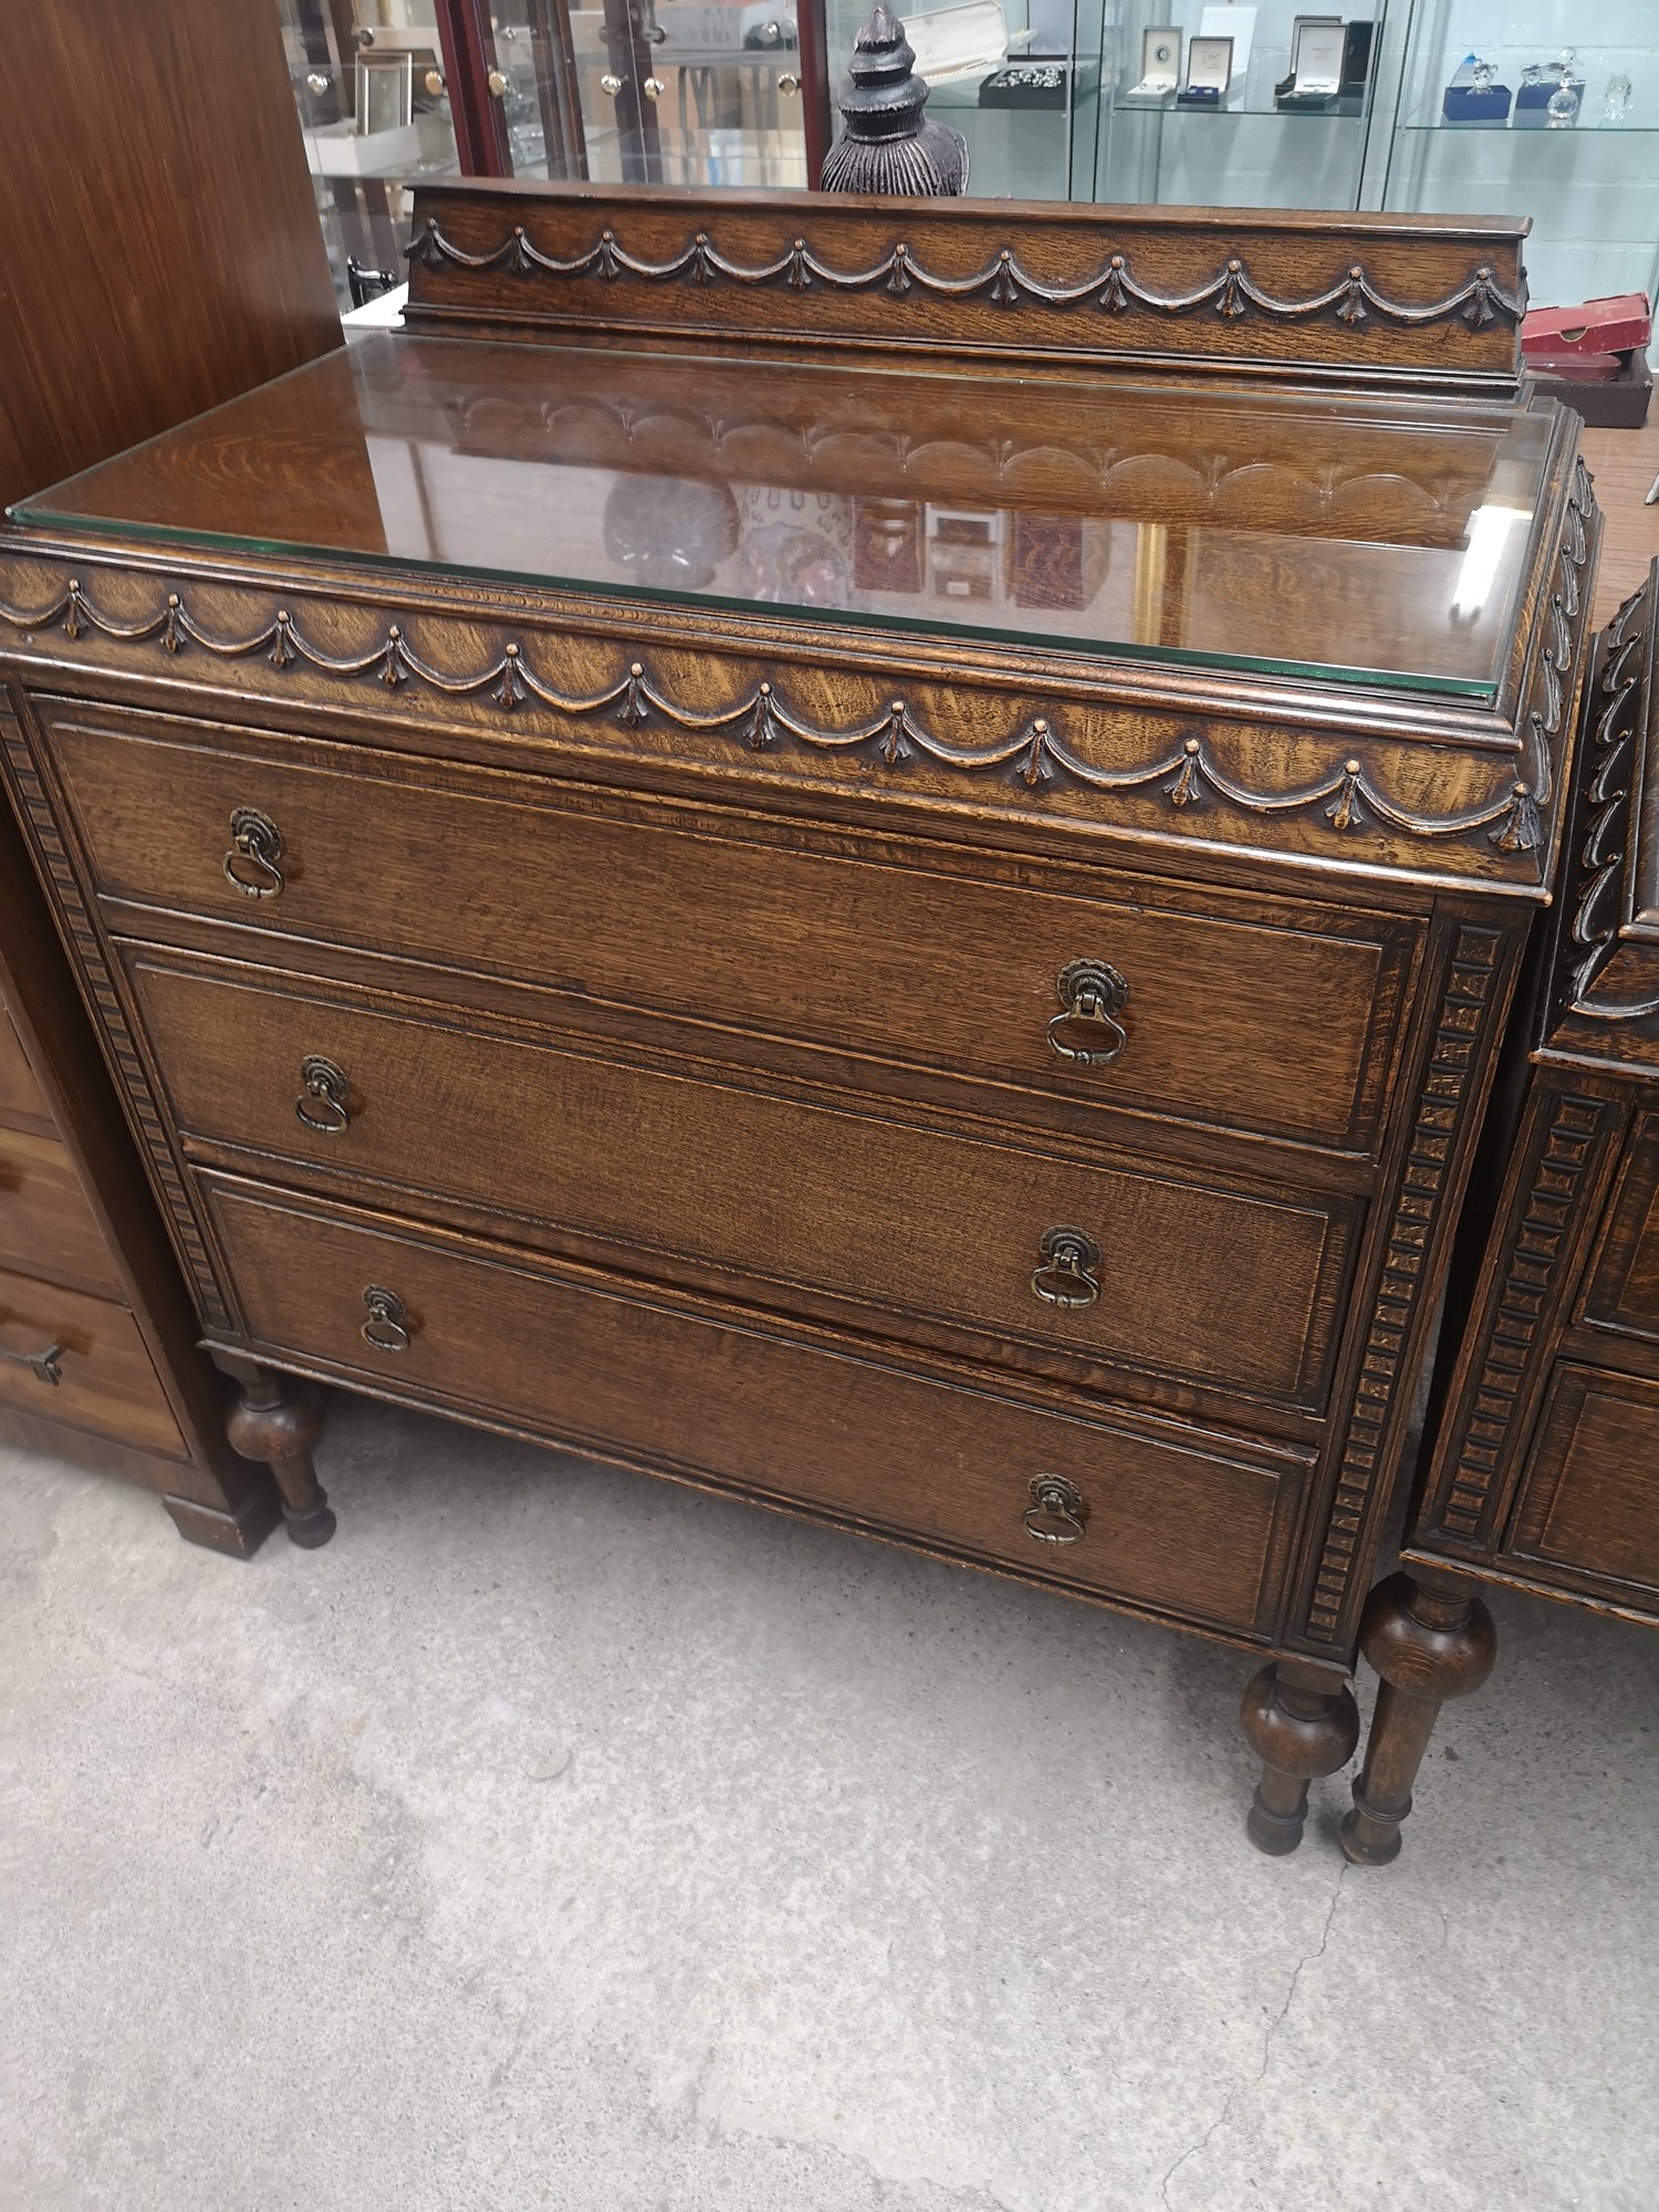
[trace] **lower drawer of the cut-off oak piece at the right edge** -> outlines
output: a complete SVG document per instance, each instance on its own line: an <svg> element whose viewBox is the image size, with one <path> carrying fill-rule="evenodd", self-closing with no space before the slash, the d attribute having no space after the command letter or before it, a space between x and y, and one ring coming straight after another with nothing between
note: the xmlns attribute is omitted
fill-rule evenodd
<svg viewBox="0 0 1659 2212"><path fill-rule="evenodd" d="M1659 1615L1659 1383L1555 1369L1506 1548Z"/></svg>

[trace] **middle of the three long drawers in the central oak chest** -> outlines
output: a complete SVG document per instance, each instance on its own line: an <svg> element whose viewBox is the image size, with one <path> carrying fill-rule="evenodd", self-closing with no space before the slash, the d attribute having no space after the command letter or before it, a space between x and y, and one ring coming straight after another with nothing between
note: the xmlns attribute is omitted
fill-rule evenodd
<svg viewBox="0 0 1659 2212"><path fill-rule="evenodd" d="M520 1237L1086 1385L1124 1369L1318 1411L1360 1203L978 1135L847 1093L460 1026L126 945L197 1152L389 1183ZM290 1177L292 1179L292 1177Z"/></svg>

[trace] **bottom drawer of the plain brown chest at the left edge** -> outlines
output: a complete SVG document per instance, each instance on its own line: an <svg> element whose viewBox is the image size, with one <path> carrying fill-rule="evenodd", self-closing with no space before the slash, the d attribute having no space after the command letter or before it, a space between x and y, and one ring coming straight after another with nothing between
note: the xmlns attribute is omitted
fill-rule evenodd
<svg viewBox="0 0 1659 2212"><path fill-rule="evenodd" d="M184 1458L173 1407L126 1307L4 1270L0 1405Z"/></svg>

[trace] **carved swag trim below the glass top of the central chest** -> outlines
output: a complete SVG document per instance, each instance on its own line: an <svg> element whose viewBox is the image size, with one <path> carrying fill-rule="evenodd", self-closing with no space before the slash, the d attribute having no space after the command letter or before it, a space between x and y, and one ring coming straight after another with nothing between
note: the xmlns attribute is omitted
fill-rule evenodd
<svg viewBox="0 0 1659 2212"><path fill-rule="evenodd" d="M1588 484L1588 480L1586 480ZM1577 564L1584 560L1582 513L1571 509L1579 522ZM1564 546L1564 573L1577 575L1577 564ZM1577 611L1577 595L1573 608ZM1557 611L1562 599L1557 595ZM88 633L115 644L159 641L166 653L179 655L188 648L219 655L221 659L246 659L263 655L272 668L316 668L330 677L365 679L385 690L398 690L416 681L427 688L460 699L487 699L502 714L511 714L524 701L538 701L573 721L613 714L622 728L637 728L657 717L672 728L730 737L754 754L772 752L781 741L794 741L818 752L858 752L887 770L900 770L911 754L951 768L960 774L984 774L1004 770L1015 790L1029 796L1040 794L1055 779L1066 779L1091 792L1150 792L1161 790L1170 807L1183 812L1206 801L1221 801L1245 814L1301 814L1321 834L1336 838L1374 825L1387 825L1416 838L1469 838L1484 834L1498 852L1533 856L1533 874L1542 874L1544 827L1540 821L1540 787L1544 803L1551 792L1551 739L1562 719L1559 670L1571 668L1573 626L1562 628L1559 659L1544 653L1544 677L1553 686L1553 708L1546 721L1533 714L1537 730L1537 765L1533 779L1513 779L1509 772L1484 803L1453 814L1429 814L1402 805L1367 770L1356 754L1332 761L1329 770L1312 781L1283 790L1263 790L1232 776L1217 759L1214 745L1199 734L1188 734L1170 752L1128 768L1104 768L1084 759L1060 728L1055 714L1035 714L1018 723L1004 737L987 745L953 745L931 730L920 714L902 699L889 701L885 712L825 728L796 714L779 686L761 679L748 697L717 712L697 712L681 706L657 684L644 661L633 661L611 686L591 695L566 695L549 684L533 666L520 641L507 641L493 661L471 670L447 670L418 653L405 624L389 624L383 639L365 653L332 655L316 646L292 608L279 606L272 617L241 635L217 635L190 613L179 591L164 591L155 615L139 622L117 622L102 613L91 599L80 577L69 577L64 588L42 608L13 608L0 602L0 622L13 630L42 633L62 628L71 639ZM1542 779L1542 783L1540 783Z"/></svg>

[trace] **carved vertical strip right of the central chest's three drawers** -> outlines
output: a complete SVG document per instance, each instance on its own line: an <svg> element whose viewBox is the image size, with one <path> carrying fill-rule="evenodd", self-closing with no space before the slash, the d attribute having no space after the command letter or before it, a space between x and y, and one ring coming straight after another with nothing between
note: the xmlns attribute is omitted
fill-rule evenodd
<svg viewBox="0 0 1659 2212"><path fill-rule="evenodd" d="M1383 1274L1365 1332L1336 1495L1301 1624L1312 1644L1340 1644L1349 1608L1360 1597L1354 1586L1356 1568L1365 1564L1367 1522L1383 1502L1383 1484L1391 1478L1398 1455L1400 1440L1398 1433L1389 1436L1389 1427L1398 1413L1400 1387L1411 1380L1407 1349L1422 1316L1425 1285L1447 1225L1458 1144L1471 1117L1471 1099L1480 1091L1482 1046L1491 1026L1504 945L1500 931L1471 925L1458 931L1453 945L1411 1141L1400 1166Z"/></svg>

